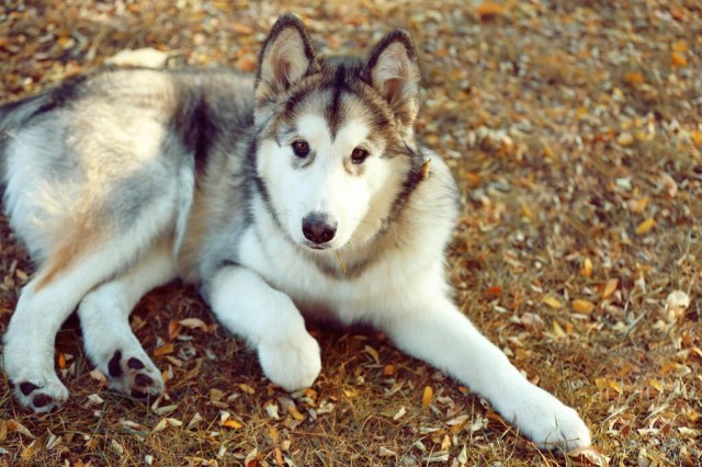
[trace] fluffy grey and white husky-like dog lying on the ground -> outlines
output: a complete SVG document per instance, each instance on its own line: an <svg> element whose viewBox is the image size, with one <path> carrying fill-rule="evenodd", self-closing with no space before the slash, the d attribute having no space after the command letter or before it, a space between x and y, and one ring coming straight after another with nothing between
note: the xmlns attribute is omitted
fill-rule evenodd
<svg viewBox="0 0 702 467"><path fill-rule="evenodd" d="M542 448L590 444L456 308L444 254L461 195L414 134L420 67L395 30L366 59L317 56L278 20L256 76L111 69L0 107L4 208L36 272L3 342L34 412L64 403L54 340L77 308L91 362L134 398L163 391L128 323L181 277L286 390L313 385L305 318L370 324L484 396Z"/></svg>

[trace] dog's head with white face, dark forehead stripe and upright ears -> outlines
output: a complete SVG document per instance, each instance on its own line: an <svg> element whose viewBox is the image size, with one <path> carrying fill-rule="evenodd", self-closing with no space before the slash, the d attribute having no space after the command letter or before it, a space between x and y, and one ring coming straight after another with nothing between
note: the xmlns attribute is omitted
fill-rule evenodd
<svg viewBox="0 0 702 467"><path fill-rule="evenodd" d="M404 31L366 60L324 60L297 18L278 20L256 80L257 173L295 242L361 246L393 215L421 171L412 132L419 81Z"/></svg>

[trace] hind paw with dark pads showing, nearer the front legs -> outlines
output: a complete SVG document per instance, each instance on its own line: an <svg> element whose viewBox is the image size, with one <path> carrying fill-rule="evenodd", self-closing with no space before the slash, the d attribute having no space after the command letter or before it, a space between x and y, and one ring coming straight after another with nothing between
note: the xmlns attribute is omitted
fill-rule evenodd
<svg viewBox="0 0 702 467"><path fill-rule="evenodd" d="M123 353L115 350L106 362L98 364L106 371L110 389L123 392L135 399L156 397L163 392L163 378L145 353Z"/></svg>

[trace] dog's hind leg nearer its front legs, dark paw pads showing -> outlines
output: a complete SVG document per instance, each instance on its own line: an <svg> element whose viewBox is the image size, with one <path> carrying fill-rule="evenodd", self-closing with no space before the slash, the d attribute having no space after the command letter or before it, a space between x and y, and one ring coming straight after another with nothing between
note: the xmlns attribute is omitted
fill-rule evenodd
<svg viewBox="0 0 702 467"><path fill-rule="evenodd" d="M170 246L162 243L114 281L82 299L78 317L90 361L111 389L145 399L163 391L163 379L129 327L129 314L151 288L176 276Z"/></svg>

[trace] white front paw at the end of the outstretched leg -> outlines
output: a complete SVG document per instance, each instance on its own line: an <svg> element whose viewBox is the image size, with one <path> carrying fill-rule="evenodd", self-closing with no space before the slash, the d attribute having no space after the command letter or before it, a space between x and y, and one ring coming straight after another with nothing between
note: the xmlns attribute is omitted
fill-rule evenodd
<svg viewBox="0 0 702 467"><path fill-rule="evenodd" d="M513 423L521 433L542 449L590 445L590 430L574 409L565 406L545 390L532 386L518 399Z"/></svg>

